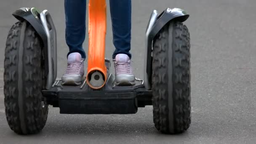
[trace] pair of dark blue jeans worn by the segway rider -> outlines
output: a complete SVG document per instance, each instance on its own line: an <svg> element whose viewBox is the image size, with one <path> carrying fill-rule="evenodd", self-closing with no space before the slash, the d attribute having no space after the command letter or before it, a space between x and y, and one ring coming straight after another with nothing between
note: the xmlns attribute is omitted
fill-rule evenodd
<svg viewBox="0 0 256 144"><path fill-rule="evenodd" d="M109 0L112 20L113 44L115 51L131 58L131 0ZM85 40L86 0L65 0L66 43L69 53L78 52L85 59L83 42ZM69 54L68 53L68 54Z"/></svg>

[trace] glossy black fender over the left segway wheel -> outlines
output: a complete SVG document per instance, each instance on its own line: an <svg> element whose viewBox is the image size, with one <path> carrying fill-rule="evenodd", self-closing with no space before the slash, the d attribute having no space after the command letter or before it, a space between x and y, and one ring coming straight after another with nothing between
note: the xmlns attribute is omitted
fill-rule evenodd
<svg viewBox="0 0 256 144"><path fill-rule="evenodd" d="M48 49L47 49L47 35L40 21L40 13L36 8L20 8L12 13L12 15L19 21L27 21L34 27L40 38L43 40L43 53L45 63L45 74L48 74Z"/></svg>

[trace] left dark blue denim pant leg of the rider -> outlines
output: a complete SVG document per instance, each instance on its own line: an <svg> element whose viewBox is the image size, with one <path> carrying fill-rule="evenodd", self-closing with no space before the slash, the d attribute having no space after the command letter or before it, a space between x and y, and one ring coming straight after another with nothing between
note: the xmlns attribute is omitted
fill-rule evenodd
<svg viewBox="0 0 256 144"><path fill-rule="evenodd" d="M83 42L85 40L86 0L65 0L64 3L66 16L65 35L69 53L78 52L85 59Z"/></svg>

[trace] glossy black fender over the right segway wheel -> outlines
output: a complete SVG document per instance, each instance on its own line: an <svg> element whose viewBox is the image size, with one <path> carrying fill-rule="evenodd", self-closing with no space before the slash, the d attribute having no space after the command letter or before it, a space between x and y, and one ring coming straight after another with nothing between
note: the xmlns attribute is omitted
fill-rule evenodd
<svg viewBox="0 0 256 144"><path fill-rule="evenodd" d="M156 13L156 12L155 12ZM154 14L154 12L152 13ZM155 23L152 25L151 31L147 36L147 52L146 54L146 72L144 73L144 85L147 90L151 89L152 84L152 43L157 33L169 22L180 21L184 22L188 19L189 14L179 8L166 8L159 16L157 16ZM146 80L145 80L146 79Z"/></svg>

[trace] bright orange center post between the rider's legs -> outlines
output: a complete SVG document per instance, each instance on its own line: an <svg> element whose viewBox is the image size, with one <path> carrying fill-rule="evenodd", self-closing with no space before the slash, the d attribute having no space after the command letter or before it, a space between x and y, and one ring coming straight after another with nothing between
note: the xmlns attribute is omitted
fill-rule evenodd
<svg viewBox="0 0 256 144"><path fill-rule="evenodd" d="M93 89L102 88L107 80L105 66L105 37L107 13L105 0L89 0L89 48L87 84Z"/></svg>

